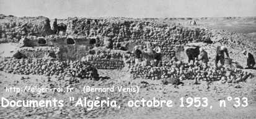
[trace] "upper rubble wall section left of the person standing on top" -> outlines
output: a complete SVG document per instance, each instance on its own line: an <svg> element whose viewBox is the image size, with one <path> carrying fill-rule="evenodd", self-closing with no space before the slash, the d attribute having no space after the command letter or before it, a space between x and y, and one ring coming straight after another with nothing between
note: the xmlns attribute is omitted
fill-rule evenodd
<svg viewBox="0 0 256 119"><path fill-rule="evenodd" d="M4 17L0 20L0 42L19 42L22 36L50 35L50 20L46 17Z"/></svg>

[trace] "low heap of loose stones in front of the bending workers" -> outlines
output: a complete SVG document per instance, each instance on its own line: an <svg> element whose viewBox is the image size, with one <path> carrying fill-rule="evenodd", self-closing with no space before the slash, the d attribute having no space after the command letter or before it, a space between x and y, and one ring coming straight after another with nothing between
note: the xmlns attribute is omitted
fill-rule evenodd
<svg viewBox="0 0 256 119"><path fill-rule="evenodd" d="M245 81L252 74L233 68L214 68L194 63L182 63L181 61L163 61L159 66L132 66L130 73L133 77L142 77L144 79L164 79L167 77L184 79L193 79L195 81L219 81L222 82L240 82Z"/></svg>

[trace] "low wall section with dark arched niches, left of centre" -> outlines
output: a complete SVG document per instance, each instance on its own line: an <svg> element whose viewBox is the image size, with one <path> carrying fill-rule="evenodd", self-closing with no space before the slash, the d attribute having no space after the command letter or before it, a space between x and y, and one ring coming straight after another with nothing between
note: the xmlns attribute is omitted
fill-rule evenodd
<svg viewBox="0 0 256 119"><path fill-rule="evenodd" d="M59 60L81 60L94 48L96 41L94 38L82 36L58 36L49 35L47 37L27 37L27 40L20 41L20 53L27 58L43 58L49 53L56 54Z"/></svg>

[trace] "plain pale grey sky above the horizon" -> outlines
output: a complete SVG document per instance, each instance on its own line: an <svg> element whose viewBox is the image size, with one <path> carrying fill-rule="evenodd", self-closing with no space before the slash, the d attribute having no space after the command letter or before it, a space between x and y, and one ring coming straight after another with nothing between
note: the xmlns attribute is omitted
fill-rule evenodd
<svg viewBox="0 0 256 119"><path fill-rule="evenodd" d="M0 0L0 14L50 18L256 16L256 0Z"/></svg>

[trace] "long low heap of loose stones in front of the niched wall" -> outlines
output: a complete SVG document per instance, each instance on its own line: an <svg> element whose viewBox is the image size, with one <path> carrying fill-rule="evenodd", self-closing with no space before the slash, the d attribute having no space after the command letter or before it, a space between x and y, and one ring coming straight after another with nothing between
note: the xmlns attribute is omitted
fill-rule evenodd
<svg viewBox="0 0 256 119"><path fill-rule="evenodd" d="M37 74L46 76L72 76L97 79L97 69L83 61L58 61L54 59L5 59L0 70L14 74Z"/></svg>

